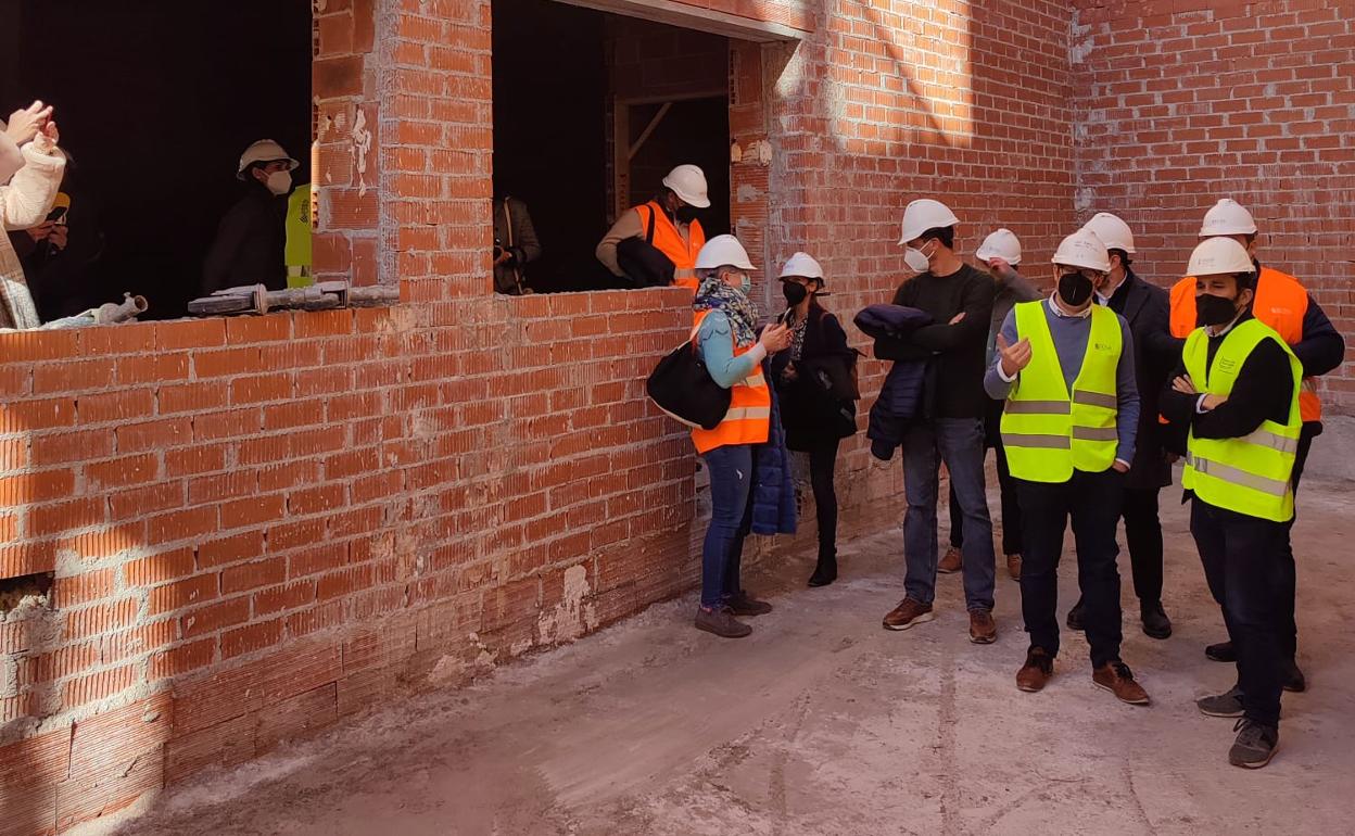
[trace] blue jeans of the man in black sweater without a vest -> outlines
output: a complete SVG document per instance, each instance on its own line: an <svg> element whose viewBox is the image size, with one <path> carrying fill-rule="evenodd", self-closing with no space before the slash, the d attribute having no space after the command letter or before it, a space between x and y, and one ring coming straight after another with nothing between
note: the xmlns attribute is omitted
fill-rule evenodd
<svg viewBox="0 0 1355 836"><path fill-rule="evenodd" d="M984 485L984 420L915 420L904 432L904 561L908 598L930 604L936 598L936 486L940 462L959 503L963 527L965 606L993 608L993 523Z"/></svg>

